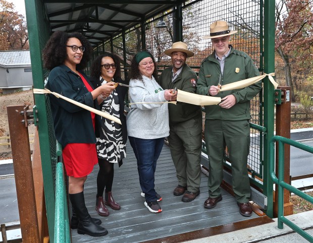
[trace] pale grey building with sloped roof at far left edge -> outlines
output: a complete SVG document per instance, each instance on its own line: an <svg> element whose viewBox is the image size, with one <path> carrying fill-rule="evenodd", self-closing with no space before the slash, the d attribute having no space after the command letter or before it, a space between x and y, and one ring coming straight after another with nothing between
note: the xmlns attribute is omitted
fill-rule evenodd
<svg viewBox="0 0 313 243"><path fill-rule="evenodd" d="M29 50L0 51L0 89L4 94L33 86Z"/></svg>

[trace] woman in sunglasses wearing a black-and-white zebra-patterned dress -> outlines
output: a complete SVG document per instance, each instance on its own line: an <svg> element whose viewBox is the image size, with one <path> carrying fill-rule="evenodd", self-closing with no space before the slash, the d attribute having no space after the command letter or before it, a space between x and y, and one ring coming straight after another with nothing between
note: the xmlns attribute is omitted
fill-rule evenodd
<svg viewBox="0 0 313 243"><path fill-rule="evenodd" d="M124 83L121 79L120 59L117 55L104 52L93 61L91 65L90 82L94 87L109 82ZM114 123L107 118L101 118L101 131L96 138L99 171L97 175L97 195L95 210L100 216L109 216L107 206L113 210L120 210L121 206L114 201L112 196L112 184L114 177L114 164L122 165L126 157L126 117L124 115L124 99L128 88L118 85L110 96L100 104L101 110L121 120L122 125ZM105 191L105 200L103 192Z"/></svg>

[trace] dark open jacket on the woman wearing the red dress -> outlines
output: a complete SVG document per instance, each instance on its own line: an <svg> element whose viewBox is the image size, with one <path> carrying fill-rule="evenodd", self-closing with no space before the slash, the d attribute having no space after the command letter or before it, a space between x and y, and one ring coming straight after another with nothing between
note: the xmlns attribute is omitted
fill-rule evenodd
<svg viewBox="0 0 313 243"><path fill-rule="evenodd" d="M87 82L88 78L79 71ZM89 82L90 86L91 83ZM80 76L67 66L60 65L51 70L46 88L79 103L100 109L96 99L85 87ZM64 148L69 143L96 143L95 131L100 128L100 116L95 115L95 130L92 126L90 111L50 94L50 105L53 116L55 135Z"/></svg>

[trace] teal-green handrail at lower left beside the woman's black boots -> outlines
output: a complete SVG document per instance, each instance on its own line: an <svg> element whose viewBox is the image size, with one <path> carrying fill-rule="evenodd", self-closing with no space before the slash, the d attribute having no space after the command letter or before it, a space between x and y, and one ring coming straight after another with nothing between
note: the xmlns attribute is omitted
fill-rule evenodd
<svg viewBox="0 0 313 243"><path fill-rule="evenodd" d="M63 163L56 166L55 243L71 242Z"/></svg>

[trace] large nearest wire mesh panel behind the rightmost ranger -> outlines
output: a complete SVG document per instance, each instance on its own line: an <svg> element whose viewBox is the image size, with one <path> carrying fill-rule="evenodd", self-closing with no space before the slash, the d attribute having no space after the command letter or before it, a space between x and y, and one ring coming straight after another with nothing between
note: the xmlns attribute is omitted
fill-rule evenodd
<svg viewBox="0 0 313 243"><path fill-rule="evenodd" d="M258 1L193 1L183 7L183 38L195 55L187 59L187 64L198 71L198 66L204 58L210 55L214 48L211 39L202 39L210 34L210 25L218 20L228 22L230 30L237 30L231 35L230 43L235 49L246 52L255 66L261 70L260 42L260 4ZM251 120L256 125L262 125L262 107L260 96L257 95L250 104ZM250 154L248 170L252 176L262 178L262 133L250 129ZM229 160L227 151L225 157Z"/></svg>

